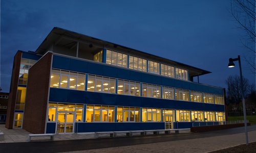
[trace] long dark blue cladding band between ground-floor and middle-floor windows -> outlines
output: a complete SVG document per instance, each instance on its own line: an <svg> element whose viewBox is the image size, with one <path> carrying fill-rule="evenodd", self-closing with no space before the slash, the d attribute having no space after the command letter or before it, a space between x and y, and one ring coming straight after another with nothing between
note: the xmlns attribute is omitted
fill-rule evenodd
<svg viewBox="0 0 256 153"><path fill-rule="evenodd" d="M224 112L224 105L195 103L189 101L137 97L68 89L50 89L49 101L94 105L131 106L182 110L203 110Z"/></svg>

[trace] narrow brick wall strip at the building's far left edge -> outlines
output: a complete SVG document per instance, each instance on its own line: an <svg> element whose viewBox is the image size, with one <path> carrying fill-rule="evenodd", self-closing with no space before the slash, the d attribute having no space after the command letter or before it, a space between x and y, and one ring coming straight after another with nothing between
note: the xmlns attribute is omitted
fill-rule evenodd
<svg viewBox="0 0 256 153"><path fill-rule="evenodd" d="M22 58L22 52L18 51L14 56L13 67L12 67L12 79L11 79L10 94L8 98L7 116L6 116L6 123L5 123L5 127L7 129L12 129L13 127L14 109L15 109L15 103L16 103L18 75L19 75L21 58Z"/></svg>

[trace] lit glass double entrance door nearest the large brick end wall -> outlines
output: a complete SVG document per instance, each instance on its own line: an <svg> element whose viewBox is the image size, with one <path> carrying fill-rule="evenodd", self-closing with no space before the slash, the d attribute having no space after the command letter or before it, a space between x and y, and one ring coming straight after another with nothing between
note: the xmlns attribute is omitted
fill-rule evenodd
<svg viewBox="0 0 256 153"><path fill-rule="evenodd" d="M74 132L74 112L58 112L57 133Z"/></svg>

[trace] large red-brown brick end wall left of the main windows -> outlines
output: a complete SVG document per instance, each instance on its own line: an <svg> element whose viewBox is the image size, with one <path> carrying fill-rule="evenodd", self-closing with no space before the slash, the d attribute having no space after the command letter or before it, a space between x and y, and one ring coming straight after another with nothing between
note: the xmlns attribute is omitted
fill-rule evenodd
<svg viewBox="0 0 256 153"><path fill-rule="evenodd" d="M52 53L42 57L29 69L23 129L45 133Z"/></svg>

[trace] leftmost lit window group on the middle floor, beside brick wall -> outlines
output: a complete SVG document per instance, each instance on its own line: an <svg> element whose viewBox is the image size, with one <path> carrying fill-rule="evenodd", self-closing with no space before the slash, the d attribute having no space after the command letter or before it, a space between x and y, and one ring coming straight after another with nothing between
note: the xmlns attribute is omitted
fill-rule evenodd
<svg viewBox="0 0 256 153"><path fill-rule="evenodd" d="M84 90L86 74L52 69L50 87Z"/></svg>

